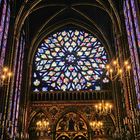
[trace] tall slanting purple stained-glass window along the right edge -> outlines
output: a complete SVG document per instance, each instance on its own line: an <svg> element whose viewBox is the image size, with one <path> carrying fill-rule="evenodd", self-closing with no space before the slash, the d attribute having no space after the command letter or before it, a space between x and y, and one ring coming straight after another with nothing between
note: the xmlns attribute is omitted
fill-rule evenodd
<svg viewBox="0 0 140 140"><path fill-rule="evenodd" d="M139 75L140 60L138 54L139 53L138 51L139 30L138 30L137 17L135 12L136 9L134 7L134 1L132 0L131 4L129 3L129 1L124 1L124 16L125 16L125 25L127 30L127 39L128 39L129 50L131 54L131 62L133 66L133 75L134 75L134 83L135 83L135 89L137 94L138 107L140 108L140 86L139 86L140 85L140 75Z"/></svg>

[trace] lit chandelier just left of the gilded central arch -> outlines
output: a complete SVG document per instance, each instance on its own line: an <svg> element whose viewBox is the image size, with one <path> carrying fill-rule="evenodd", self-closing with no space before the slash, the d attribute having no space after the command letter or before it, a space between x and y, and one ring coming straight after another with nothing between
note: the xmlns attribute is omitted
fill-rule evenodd
<svg viewBox="0 0 140 140"><path fill-rule="evenodd" d="M49 121L46 119L41 119L36 122L36 129L39 131L45 131L49 128Z"/></svg>

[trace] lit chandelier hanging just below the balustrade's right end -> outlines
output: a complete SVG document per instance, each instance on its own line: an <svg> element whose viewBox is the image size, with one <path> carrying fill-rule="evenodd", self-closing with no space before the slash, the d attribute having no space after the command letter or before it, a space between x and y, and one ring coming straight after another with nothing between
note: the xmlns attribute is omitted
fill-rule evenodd
<svg viewBox="0 0 140 140"><path fill-rule="evenodd" d="M107 115L110 114L112 111L112 104L108 103L104 100L102 100L102 102L95 104L95 111L99 114L99 115Z"/></svg>

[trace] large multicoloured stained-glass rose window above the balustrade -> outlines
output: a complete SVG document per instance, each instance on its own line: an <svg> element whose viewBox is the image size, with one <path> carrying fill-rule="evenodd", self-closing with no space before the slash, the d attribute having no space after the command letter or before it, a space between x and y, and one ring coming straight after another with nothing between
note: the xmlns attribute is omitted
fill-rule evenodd
<svg viewBox="0 0 140 140"><path fill-rule="evenodd" d="M90 33L63 30L45 38L34 57L33 91L100 90L107 53Z"/></svg>

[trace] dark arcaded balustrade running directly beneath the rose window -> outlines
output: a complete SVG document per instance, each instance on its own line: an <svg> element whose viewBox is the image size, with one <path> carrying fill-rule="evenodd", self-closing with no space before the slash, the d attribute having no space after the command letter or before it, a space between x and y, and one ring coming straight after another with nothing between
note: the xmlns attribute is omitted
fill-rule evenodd
<svg viewBox="0 0 140 140"><path fill-rule="evenodd" d="M32 92L31 101L112 100L110 90Z"/></svg>

